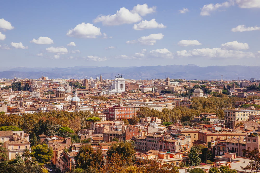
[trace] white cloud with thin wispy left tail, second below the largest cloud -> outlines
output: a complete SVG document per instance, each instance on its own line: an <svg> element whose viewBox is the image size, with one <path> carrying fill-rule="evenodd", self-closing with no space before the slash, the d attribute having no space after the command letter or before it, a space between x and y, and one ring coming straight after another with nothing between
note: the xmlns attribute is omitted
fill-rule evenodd
<svg viewBox="0 0 260 173"><path fill-rule="evenodd" d="M149 36L143 36L138 38L138 40L130 40L126 41L126 43L140 43L145 45L154 45L156 43L156 40L161 40L164 37L162 33L158 34L150 34Z"/></svg>

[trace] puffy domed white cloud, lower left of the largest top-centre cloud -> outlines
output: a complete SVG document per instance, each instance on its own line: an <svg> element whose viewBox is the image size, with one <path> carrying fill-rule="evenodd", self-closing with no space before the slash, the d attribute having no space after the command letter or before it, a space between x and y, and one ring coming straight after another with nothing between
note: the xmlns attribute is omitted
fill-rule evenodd
<svg viewBox="0 0 260 173"><path fill-rule="evenodd" d="M78 24L74 29L67 31L67 36L77 38L96 38L102 35L100 28L90 23Z"/></svg>

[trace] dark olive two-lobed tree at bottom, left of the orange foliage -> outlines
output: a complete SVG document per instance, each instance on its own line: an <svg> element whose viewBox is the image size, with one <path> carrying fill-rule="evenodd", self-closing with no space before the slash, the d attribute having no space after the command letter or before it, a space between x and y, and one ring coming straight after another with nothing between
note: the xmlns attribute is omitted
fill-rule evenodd
<svg viewBox="0 0 260 173"><path fill-rule="evenodd" d="M75 157L76 168L86 169L88 167L97 170L103 165L102 150L98 149L94 152L90 144L80 147L79 153Z"/></svg>

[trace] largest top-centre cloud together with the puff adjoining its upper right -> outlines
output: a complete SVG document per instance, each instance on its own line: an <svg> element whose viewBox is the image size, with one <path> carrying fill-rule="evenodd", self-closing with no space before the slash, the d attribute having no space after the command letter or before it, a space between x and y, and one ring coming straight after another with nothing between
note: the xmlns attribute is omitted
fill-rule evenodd
<svg viewBox="0 0 260 173"><path fill-rule="evenodd" d="M132 11L122 7L113 15L99 15L93 21L94 23L102 22L103 25L121 25L139 22L142 17L149 13L155 12L156 7L148 8L147 4L136 5Z"/></svg>

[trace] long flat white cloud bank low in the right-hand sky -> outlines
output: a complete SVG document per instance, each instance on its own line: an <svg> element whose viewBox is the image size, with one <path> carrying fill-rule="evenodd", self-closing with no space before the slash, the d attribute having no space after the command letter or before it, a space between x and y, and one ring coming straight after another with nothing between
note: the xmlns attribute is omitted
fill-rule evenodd
<svg viewBox="0 0 260 173"><path fill-rule="evenodd" d="M223 50L219 47L216 48L203 48L193 50L177 51L178 56L192 56L192 57L205 57L205 58L254 58L255 54L252 52L243 52L239 50Z"/></svg>

